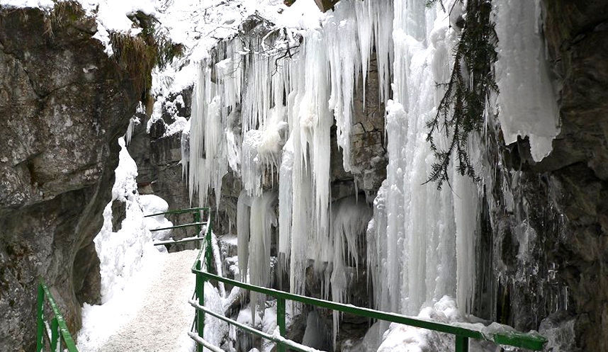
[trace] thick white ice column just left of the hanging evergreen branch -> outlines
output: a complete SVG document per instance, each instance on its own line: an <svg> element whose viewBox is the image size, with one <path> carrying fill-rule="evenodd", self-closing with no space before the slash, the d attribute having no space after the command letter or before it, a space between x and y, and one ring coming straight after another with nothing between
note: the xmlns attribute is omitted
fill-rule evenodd
<svg viewBox="0 0 608 352"><path fill-rule="evenodd" d="M444 1L446 8L452 4ZM426 123L437 114L443 91L436 84L449 77L458 33L440 6L395 0L394 13L387 179L368 225L368 256L377 256L368 257L375 305L417 314L451 295L464 312L473 294L477 189L461 176L441 191L424 184L434 162ZM435 136L440 144L443 138Z"/></svg>

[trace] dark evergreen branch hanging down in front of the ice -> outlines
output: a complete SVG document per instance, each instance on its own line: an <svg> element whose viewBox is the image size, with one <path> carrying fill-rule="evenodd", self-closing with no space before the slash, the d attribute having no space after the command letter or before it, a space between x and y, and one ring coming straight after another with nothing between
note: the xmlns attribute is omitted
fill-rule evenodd
<svg viewBox="0 0 608 352"><path fill-rule="evenodd" d="M444 8L441 0L427 0L426 4L432 6L437 1ZM462 3L463 0L458 1ZM435 162L424 183L437 182L438 189L444 182L449 185L449 164L454 154L458 159L456 171L475 181L479 179L471 164L467 142L471 133L481 132L486 103L492 92L498 92L493 69L497 59L497 36L494 23L490 21L491 10L491 0L467 1L467 16L460 41L454 49L450 80L439 84L446 87L446 92L439 103L437 115L427 122L427 142L434 153ZM446 149L439 148L435 143L435 131L449 141Z"/></svg>

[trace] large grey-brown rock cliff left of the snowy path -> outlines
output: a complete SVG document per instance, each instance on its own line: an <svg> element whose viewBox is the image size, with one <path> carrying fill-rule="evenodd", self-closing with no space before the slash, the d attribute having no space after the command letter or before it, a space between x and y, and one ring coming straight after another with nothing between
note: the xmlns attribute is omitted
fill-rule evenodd
<svg viewBox="0 0 608 352"><path fill-rule="evenodd" d="M99 295L92 239L142 96L92 18L0 8L0 350L33 351L38 276L68 326ZM138 90L139 89L139 90Z"/></svg>

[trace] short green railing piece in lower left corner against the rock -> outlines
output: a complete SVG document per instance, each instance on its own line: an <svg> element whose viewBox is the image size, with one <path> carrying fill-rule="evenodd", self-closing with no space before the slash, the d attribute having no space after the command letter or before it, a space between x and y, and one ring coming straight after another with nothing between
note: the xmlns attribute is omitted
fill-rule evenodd
<svg viewBox="0 0 608 352"><path fill-rule="evenodd" d="M52 311L50 323L45 316L45 302L48 302ZM41 352L46 346L50 351L78 352L72 335L69 334L55 299L47 288L43 278L38 283L38 304L36 305L36 352ZM46 341L45 341L46 340Z"/></svg>

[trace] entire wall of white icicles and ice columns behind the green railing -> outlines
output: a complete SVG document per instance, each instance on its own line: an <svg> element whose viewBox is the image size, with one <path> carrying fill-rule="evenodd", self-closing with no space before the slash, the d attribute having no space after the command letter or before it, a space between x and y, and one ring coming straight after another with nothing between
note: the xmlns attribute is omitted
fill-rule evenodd
<svg viewBox="0 0 608 352"><path fill-rule="evenodd" d="M271 228L278 224L279 268L288 271L291 292L305 293L312 260L326 278L325 295L331 291L333 300L343 302L349 267L359 265L358 234L366 232L377 309L417 314L450 295L461 312L469 312L478 186L456 171L441 191L423 185L434 162L426 123L444 93L437 83L449 80L463 12L454 2L443 1L448 14L422 0L343 0L316 28L224 40L215 59L201 62L184 132L188 181L200 204L210 190L219 204L228 168L242 178L242 280L270 283ZM293 55L280 58L281 50L268 49L272 40L293 47ZM378 93L387 106L389 163L367 224L372 210L363 200L331 203L330 128L337 126L344 169L356 171L350 157L353 98L356 81L367 79L373 51ZM264 191L264 180L277 173L278 194ZM252 296L253 304L260 299Z"/></svg>

